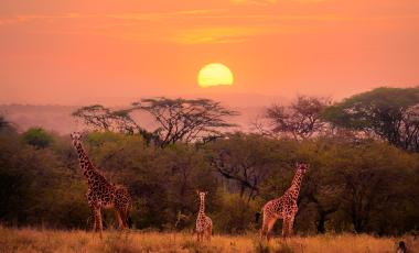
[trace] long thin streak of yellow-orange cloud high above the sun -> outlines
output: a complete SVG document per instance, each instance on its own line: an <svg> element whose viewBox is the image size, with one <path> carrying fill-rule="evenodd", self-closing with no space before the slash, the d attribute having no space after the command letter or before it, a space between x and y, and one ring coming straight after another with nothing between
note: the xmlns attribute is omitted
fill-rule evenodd
<svg viewBox="0 0 419 253"><path fill-rule="evenodd" d="M235 0L249 2L251 0ZM275 3L276 0L264 0ZM257 0L257 2L264 2ZM168 13L146 14L80 14L68 13L65 15L15 15L15 19L0 20L0 25L15 23L35 23L43 20L49 26L42 31L41 25L25 26L21 31L32 33L62 33L62 34L89 34L97 36L110 36L120 40L138 42L160 42L175 44L202 44L202 43L241 43L259 35L279 33L313 32L305 30L301 22L281 21L358 21L358 20L390 20L390 19L417 19L418 15L387 15L387 16L353 16L346 14L322 15L246 15L232 14L224 9L192 10ZM142 24L147 25L142 25ZM222 25L223 24L223 25ZM284 24L284 25L282 25ZM123 29L112 29L126 26ZM131 28L130 28L131 26ZM290 28L290 29L283 29ZM292 29L291 29L292 28ZM296 28L300 28L298 30ZM36 31L29 31L29 30Z"/></svg>

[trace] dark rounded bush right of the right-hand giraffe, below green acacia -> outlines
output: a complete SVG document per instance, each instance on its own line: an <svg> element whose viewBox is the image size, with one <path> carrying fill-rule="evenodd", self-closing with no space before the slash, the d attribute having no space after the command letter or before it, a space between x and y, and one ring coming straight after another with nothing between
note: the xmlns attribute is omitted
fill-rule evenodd
<svg viewBox="0 0 419 253"><path fill-rule="evenodd" d="M326 154L325 173L333 178L330 190L340 197L342 215L356 232L370 232L373 223L386 227L391 206L401 205L400 189L417 162L374 139L363 139L359 145L335 145Z"/></svg>

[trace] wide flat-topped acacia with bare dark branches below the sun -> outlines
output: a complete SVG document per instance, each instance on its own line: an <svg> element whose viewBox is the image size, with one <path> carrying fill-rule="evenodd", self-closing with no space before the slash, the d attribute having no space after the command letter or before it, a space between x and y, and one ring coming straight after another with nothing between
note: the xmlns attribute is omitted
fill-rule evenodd
<svg viewBox="0 0 419 253"><path fill-rule="evenodd" d="M205 142L222 136L219 128L237 127L226 123L225 117L239 116L237 111L226 110L219 102L211 99L141 99L132 103L133 109L150 112L161 124L157 130L161 134L161 147L178 141L190 143L202 139Z"/></svg>

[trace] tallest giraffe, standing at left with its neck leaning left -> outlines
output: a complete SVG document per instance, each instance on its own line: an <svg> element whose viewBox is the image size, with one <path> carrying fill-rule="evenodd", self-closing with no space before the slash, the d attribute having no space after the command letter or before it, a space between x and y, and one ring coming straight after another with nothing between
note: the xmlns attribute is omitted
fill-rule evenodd
<svg viewBox="0 0 419 253"><path fill-rule="evenodd" d="M126 188L120 188L110 184L101 173L99 173L92 164L88 158L86 151L83 148L79 140L82 135L74 132L69 134L73 140L73 145L77 151L78 158L80 162L80 169L85 176L89 189L87 191L87 200L90 211L90 224L92 224L92 241L95 240L96 223L99 228L99 234L101 240L103 224L100 218L100 208L115 208L118 213L119 229L120 232L125 228L128 228L127 209L130 205L132 208L131 197Z"/></svg>

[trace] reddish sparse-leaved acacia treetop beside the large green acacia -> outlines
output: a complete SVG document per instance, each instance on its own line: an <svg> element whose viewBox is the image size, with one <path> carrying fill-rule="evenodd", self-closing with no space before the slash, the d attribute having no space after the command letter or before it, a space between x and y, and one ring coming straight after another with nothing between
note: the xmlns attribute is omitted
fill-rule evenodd
<svg viewBox="0 0 419 253"><path fill-rule="evenodd" d="M298 95L289 106L273 103L265 110L262 119L267 120L267 131L260 121L254 122L253 127L267 135L287 133L294 139L310 138L323 132L321 112L330 103L330 97Z"/></svg>

